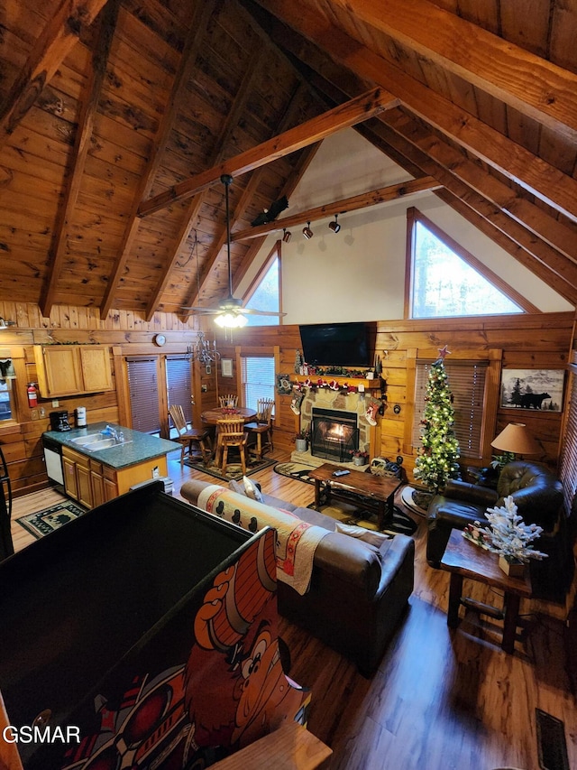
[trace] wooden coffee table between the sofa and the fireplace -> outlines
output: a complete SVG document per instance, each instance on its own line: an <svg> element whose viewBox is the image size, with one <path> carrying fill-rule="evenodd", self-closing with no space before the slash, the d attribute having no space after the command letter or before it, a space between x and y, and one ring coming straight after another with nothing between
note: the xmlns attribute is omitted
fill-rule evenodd
<svg viewBox="0 0 577 770"><path fill-rule="evenodd" d="M345 492L354 492L358 495L370 498L377 514L377 526L383 529L387 521L392 521L393 499L395 492L401 485L398 478L373 476L372 473L362 473L360 470L351 470L346 476L333 476L335 470L343 470L342 466L324 465L311 470L308 476L315 479L315 506L318 508L321 502L321 490L325 489L326 499L331 497L351 502L351 495ZM323 487L325 484L325 487ZM366 502L366 501L363 501Z"/></svg>

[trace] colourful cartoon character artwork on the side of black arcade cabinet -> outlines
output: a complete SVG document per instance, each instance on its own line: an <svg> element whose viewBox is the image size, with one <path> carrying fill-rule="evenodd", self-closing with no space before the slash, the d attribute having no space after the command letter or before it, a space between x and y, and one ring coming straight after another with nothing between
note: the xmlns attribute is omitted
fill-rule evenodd
<svg viewBox="0 0 577 770"><path fill-rule="evenodd" d="M277 624L266 530L206 590L188 661L153 679L136 675L115 708L99 699L100 730L69 753L65 770L197 770L286 720L305 724L310 694L282 669Z"/></svg>

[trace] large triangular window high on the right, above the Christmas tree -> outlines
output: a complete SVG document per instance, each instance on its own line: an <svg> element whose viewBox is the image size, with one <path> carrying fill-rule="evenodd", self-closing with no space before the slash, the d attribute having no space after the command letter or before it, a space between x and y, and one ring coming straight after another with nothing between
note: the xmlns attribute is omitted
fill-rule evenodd
<svg viewBox="0 0 577 770"><path fill-rule="evenodd" d="M527 310L518 292L417 209L408 218L409 318L492 315Z"/></svg>

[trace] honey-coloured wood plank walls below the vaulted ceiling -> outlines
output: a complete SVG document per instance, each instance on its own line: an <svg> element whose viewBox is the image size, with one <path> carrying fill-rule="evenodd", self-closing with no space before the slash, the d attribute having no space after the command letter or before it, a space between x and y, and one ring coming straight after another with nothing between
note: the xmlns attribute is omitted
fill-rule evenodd
<svg viewBox="0 0 577 770"><path fill-rule="evenodd" d="M171 314L156 313L150 323L139 313L111 311L106 320L91 308L56 306L50 319L41 317L35 305L0 302L0 315L15 320L16 326L0 332L0 348L11 350L18 379L18 413L20 422L0 428L0 445L10 464L15 494L23 494L46 484L41 451L41 433L49 428L48 413L53 409L49 401L46 417L32 415L26 402L25 388L35 381L32 357L34 343L98 342L113 348L116 364L125 355L181 353L197 339L195 319L183 324ZM210 325L208 325L210 324ZM387 380L387 408L380 420L380 454L390 459L398 455L404 459L408 478L412 480L415 458L407 445L408 426L412 424L412 395L409 393L410 362L419 357L435 357L438 348L447 345L452 357L482 358L489 352L500 352L500 366L508 368L548 368L568 370L572 358L574 318L572 313L549 313L512 316L491 316L466 320L398 320L378 321L376 352L383 360L383 376ZM157 348L153 338L160 330L167 337L167 345ZM215 327L206 322L207 337L213 339ZM222 357L233 359L234 376L223 377L220 366L212 366L206 375L204 366L194 364L193 394L194 418L199 423L200 413L216 404L217 395L240 393L240 373L237 366L239 353L276 355L278 371L294 374L295 356L301 349L297 325L261 327L235 330L233 339L224 339L217 330L217 348ZM384 351L387 351L386 353ZM498 404L499 383L491 385L496 392L493 402ZM97 420L126 420L125 393L119 378L112 393L92 394L60 399L60 408L72 415L78 405L87 407L88 422ZM566 399L565 399L566 401ZM39 402L39 405L41 402ZM400 412L394 413L398 404ZM522 418L522 419L521 419ZM496 408L492 422L485 430L491 440L502 428L515 419L526 422L544 447L540 460L556 468L560 454L563 414L540 413L535 410ZM292 439L298 429L298 416L290 410L290 396L277 395L275 447L291 451ZM490 461L490 453L467 464L480 466Z"/></svg>

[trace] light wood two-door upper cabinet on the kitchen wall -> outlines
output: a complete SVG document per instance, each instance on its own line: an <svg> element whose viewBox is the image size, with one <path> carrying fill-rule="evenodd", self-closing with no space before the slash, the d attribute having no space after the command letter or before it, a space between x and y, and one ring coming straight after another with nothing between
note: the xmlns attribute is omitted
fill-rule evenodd
<svg viewBox="0 0 577 770"><path fill-rule="evenodd" d="M34 345L34 360L43 398L113 389L107 345Z"/></svg>

